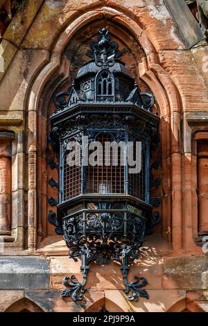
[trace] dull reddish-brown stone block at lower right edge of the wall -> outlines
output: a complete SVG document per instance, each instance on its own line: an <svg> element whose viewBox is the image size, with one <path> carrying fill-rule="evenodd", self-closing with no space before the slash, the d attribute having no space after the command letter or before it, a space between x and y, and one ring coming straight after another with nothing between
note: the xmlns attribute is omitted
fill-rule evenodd
<svg viewBox="0 0 208 326"><path fill-rule="evenodd" d="M207 289L207 257L174 257L162 267L164 289Z"/></svg>

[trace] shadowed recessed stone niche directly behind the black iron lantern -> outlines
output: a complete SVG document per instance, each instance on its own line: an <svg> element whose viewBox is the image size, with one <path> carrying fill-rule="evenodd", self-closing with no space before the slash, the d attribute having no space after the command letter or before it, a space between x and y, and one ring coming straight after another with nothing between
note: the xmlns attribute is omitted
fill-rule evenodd
<svg viewBox="0 0 208 326"><path fill-rule="evenodd" d="M98 31L101 30L101 27L107 26L109 29L112 41L116 41L119 44L119 50L122 51L122 61L125 62L125 66L130 70L132 76L135 76L135 80L141 89L141 92L150 92L151 90L148 85L139 78L138 65L140 62L145 60L146 55L144 50L141 48L137 40L135 40L134 35L132 35L128 30L121 27L119 24L112 24L110 20L103 19L92 24L85 26L85 28L81 28L69 41L67 46L64 49L64 53L62 55L62 62L59 71L49 80L49 83L44 87L44 92L42 94L42 117L40 118L40 123L42 123L41 130L47 131L47 139L49 138L50 126L47 121L49 121L49 117L52 112L55 111L55 103L54 98L55 94L59 92L66 91L69 85L72 83L73 78L76 77L78 69L83 66L83 64L90 60L90 58L86 55L87 51L89 51L90 43L95 41L98 37ZM55 87L56 85L56 87ZM47 111L45 108L48 108ZM155 96L155 105L153 107L153 111L159 112L159 105L157 103L157 96ZM43 134L42 137L46 139L46 134ZM55 232L55 227L53 223L49 223L47 221L47 216L55 216L56 207L55 203L51 198L57 200L58 198L58 189L52 184L50 180L58 180L57 169L54 168L54 164L51 162L55 162L58 164L58 159L55 155L55 151L53 150L53 144L50 141L44 141L40 145L42 146L42 151L44 153L44 170L40 170L40 175L44 175L44 180L42 180L42 184L44 182L44 203L46 203L47 209L42 211L42 225L39 225L39 246L43 248L43 246L48 243L48 241L53 241L54 239L62 239L62 236L58 236ZM162 216L162 205L161 205L161 146L155 150L153 155L153 160L151 164L154 162L159 162L159 166L156 169L152 169L151 178L153 185L151 187L151 198L152 201L155 200L155 210L159 212ZM157 165L157 163L156 163ZM52 204L52 205L51 205ZM52 212L52 213L51 213ZM51 214L51 215L50 215ZM49 217L50 219L50 217ZM56 229L57 230L57 229ZM58 230L57 230L58 231ZM155 234L162 234L162 223L156 225ZM48 238L48 239L46 239ZM57 241L57 240L54 240Z"/></svg>

